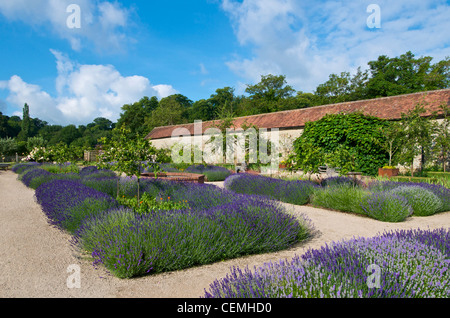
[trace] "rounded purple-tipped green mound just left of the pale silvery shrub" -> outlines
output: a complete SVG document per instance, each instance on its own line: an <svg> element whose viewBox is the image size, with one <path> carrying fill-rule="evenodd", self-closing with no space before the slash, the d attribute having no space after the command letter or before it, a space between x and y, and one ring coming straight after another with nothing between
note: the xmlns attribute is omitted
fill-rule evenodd
<svg viewBox="0 0 450 318"><path fill-rule="evenodd" d="M372 193L360 205L364 215L384 222L401 222L413 213L408 200L390 192Z"/></svg>

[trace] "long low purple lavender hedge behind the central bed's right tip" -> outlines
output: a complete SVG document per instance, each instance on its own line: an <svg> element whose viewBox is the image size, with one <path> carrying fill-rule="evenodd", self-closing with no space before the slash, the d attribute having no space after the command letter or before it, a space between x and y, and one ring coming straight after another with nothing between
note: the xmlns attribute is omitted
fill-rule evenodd
<svg viewBox="0 0 450 318"><path fill-rule="evenodd" d="M224 187L236 193L261 195L273 200L303 205L309 202L313 190L320 186L306 180L286 181L240 173L226 178Z"/></svg>

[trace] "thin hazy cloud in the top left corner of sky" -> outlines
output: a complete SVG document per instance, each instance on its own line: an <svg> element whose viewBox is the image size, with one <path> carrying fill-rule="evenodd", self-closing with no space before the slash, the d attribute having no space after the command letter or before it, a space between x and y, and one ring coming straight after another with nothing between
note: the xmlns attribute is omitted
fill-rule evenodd
<svg viewBox="0 0 450 318"><path fill-rule="evenodd" d="M69 41L74 50L88 43L97 49L121 50L130 40L125 29L130 25L130 10L118 2L77 0L80 7L80 28L69 28L71 12L66 9L73 0L15 0L0 1L0 14L12 21L31 26L47 26L50 32Z"/></svg>

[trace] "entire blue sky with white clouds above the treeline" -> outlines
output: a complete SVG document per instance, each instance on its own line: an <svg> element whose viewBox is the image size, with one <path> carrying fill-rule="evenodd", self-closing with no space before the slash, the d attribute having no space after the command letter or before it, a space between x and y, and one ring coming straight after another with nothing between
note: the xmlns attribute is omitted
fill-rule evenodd
<svg viewBox="0 0 450 318"><path fill-rule="evenodd" d="M80 28L67 19L80 8ZM370 28L370 4L380 28ZM143 96L193 101L261 75L310 92L379 55L450 56L442 0L0 0L0 111L57 124L116 121Z"/></svg>

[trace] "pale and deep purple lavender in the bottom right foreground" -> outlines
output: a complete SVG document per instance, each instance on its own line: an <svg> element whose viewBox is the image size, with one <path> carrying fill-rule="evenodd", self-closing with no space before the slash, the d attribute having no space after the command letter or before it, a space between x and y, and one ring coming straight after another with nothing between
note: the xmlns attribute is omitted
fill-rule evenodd
<svg viewBox="0 0 450 318"><path fill-rule="evenodd" d="M449 231L408 230L354 238L251 271L232 268L206 298L410 298L450 296ZM379 285L372 266L380 269Z"/></svg>

